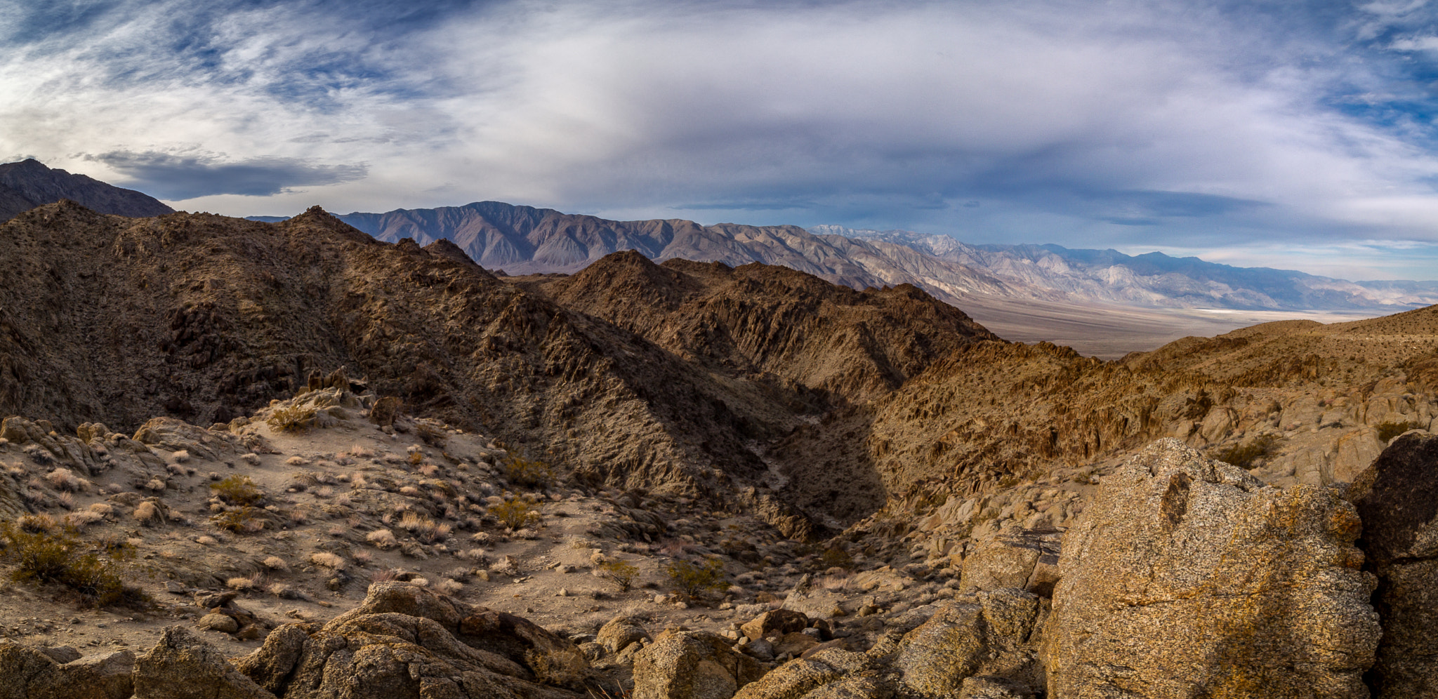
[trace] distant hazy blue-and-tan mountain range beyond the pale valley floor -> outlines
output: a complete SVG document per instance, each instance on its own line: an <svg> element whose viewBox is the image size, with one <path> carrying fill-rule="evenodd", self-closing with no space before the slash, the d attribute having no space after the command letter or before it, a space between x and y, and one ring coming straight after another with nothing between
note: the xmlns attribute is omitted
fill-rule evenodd
<svg viewBox="0 0 1438 699"><path fill-rule="evenodd" d="M486 269L508 275L574 273L611 252L637 250L656 262L682 257L729 266L782 265L857 289L913 283L961 308L975 298L1353 312L1438 303L1438 282L1347 282L1158 252L1130 256L1057 245L968 245L905 230L700 226L680 219L613 221L499 201L339 219L387 242L411 237L429 245L449 239Z"/></svg>

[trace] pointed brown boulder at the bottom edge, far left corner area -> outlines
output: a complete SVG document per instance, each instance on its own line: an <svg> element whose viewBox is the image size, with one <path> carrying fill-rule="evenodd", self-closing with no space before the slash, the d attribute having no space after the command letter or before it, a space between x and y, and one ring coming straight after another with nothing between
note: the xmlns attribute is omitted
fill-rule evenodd
<svg viewBox="0 0 1438 699"><path fill-rule="evenodd" d="M135 659L135 699L275 699L240 675L214 646L171 626Z"/></svg>

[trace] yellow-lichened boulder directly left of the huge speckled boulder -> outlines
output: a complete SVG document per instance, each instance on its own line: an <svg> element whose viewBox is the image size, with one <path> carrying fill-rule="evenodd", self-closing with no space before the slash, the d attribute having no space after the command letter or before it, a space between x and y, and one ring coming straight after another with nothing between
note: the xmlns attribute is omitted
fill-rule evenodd
<svg viewBox="0 0 1438 699"><path fill-rule="evenodd" d="M1017 588L963 595L905 634L893 664L925 695L956 692L976 675L1041 687L1030 643L1040 610L1038 595Z"/></svg>

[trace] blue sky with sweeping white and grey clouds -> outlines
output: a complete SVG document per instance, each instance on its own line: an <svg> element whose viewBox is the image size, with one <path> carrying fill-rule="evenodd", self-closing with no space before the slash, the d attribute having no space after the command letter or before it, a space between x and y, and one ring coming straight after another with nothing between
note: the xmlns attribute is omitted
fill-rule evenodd
<svg viewBox="0 0 1438 699"><path fill-rule="evenodd" d="M0 161L1438 279L1438 1L0 0Z"/></svg>

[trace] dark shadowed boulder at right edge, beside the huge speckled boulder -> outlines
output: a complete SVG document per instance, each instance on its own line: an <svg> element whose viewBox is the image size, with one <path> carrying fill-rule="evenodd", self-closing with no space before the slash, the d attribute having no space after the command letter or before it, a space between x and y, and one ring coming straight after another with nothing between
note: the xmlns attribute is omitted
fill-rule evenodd
<svg viewBox="0 0 1438 699"><path fill-rule="evenodd" d="M1438 436L1392 442L1347 492L1363 519L1359 547L1378 574L1373 606L1383 637L1378 698L1438 695Z"/></svg>

